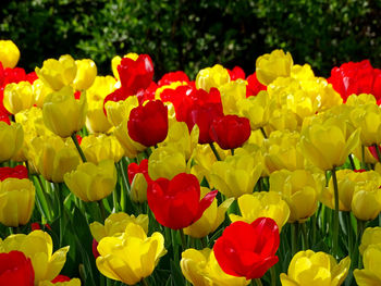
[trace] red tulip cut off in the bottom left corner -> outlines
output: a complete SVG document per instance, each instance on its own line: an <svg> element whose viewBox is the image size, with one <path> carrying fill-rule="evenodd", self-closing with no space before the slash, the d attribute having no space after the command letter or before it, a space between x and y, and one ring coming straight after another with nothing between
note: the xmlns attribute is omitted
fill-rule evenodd
<svg viewBox="0 0 381 286"><path fill-rule="evenodd" d="M34 286L35 271L21 251L0 253L0 286Z"/></svg>

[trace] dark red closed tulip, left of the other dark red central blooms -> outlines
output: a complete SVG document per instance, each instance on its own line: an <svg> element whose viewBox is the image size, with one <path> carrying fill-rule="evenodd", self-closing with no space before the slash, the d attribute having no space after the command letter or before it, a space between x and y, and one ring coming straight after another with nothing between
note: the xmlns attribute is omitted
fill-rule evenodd
<svg viewBox="0 0 381 286"><path fill-rule="evenodd" d="M134 108L127 127L133 140L147 147L155 146L167 137L168 108L160 100Z"/></svg>

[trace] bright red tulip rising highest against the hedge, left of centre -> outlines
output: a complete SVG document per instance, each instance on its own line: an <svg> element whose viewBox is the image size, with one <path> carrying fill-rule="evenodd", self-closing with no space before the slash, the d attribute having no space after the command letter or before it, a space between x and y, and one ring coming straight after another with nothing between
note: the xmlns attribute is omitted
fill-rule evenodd
<svg viewBox="0 0 381 286"><path fill-rule="evenodd" d="M135 95L139 89L146 89L153 77L153 63L148 54L140 54L136 61L123 58L118 65L119 76L123 88Z"/></svg>

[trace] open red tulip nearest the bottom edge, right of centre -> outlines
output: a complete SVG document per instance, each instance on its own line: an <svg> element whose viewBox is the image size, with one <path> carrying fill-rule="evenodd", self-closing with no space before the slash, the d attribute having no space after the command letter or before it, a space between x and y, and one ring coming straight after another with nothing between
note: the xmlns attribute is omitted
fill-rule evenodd
<svg viewBox="0 0 381 286"><path fill-rule="evenodd" d="M221 269L246 279L260 278L278 262L280 236L276 223L259 217L251 224L235 222L217 239L213 250Z"/></svg>

